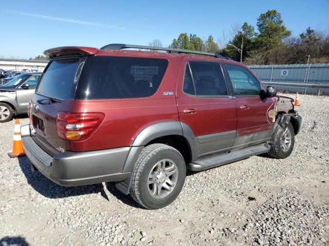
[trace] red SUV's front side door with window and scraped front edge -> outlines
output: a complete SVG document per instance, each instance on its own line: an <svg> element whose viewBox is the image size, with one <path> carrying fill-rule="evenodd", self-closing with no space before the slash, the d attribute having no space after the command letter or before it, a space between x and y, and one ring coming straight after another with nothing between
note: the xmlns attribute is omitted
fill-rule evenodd
<svg viewBox="0 0 329 246"><path fill-rule="evenodd" d="M275 108L273 99L261 97L263 88L247 69L234 65L225 67L237 112L233 148L240 149L269 140L274 124L273 118L269 117L269 111Z"/></svg>

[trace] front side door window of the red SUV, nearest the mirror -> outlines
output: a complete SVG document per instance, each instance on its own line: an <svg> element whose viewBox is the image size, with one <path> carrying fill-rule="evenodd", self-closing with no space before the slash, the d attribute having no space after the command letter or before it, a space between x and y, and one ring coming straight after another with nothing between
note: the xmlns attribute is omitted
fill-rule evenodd
<svg viewBox="0 0 329 246"><path fill-rule="evenodd" d="M246 69L226 65L233 86L234 95L259 95L261 86Z"/></svg>

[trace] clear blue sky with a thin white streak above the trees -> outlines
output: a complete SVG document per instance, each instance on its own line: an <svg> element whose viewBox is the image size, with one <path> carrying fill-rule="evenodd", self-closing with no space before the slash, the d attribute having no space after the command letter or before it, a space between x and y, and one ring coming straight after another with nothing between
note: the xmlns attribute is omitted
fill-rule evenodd
<svg viewBox="0 0 329 246"><path fill-rule="evenodd" d="M183 32L217 42L244 22L257 30L257 18L269 9L281 13L293 36L307 27L329 32L329 0L15 0L1 2L0 57L35 57L60 46L149 45L153 39L169 46Z"/></svg>

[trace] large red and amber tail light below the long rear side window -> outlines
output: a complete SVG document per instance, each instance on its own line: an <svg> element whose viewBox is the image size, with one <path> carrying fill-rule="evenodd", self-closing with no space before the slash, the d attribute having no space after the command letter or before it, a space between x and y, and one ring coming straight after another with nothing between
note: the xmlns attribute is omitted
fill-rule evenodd
<svg viewBox="0 0 329 246"><path fill-rule="evenodd" d="M58 136L68 141L87 139L99 127L104 119L102 113L57 113L56 126Z"/></svg>

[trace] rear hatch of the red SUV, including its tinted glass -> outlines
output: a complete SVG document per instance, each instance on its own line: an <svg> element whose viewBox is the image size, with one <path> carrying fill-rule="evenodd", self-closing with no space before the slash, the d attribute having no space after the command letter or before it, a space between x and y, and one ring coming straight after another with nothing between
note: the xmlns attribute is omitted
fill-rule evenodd
<svg viewBox="0 0 329 246"><path fill-rule="evenodd" d="M85 59L86 56L75 56L51 60L31 101L31 135L52 156L66 151L66 140L57 132L57 114L70 111Z"/></svg>

